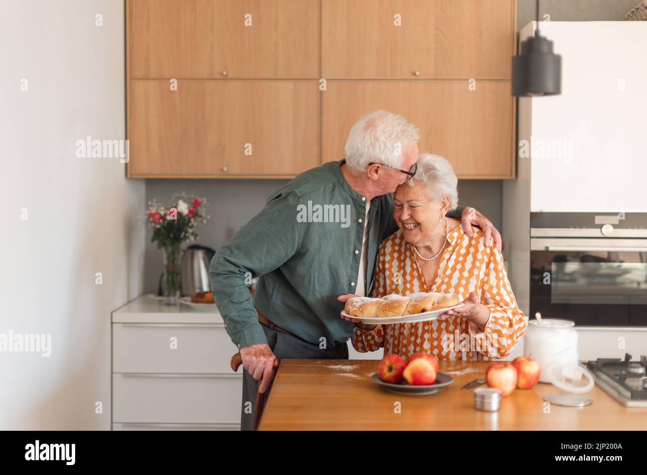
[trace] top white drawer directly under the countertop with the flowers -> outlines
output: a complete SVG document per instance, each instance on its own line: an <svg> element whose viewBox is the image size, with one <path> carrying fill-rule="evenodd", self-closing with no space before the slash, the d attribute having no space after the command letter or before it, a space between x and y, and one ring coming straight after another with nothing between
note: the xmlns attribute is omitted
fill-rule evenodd
<svg viewBox="0 0 647 475"><path fill-rule="evenodd" d="M237 351L223 325L113 324L113 373L233 374Z"/></svg>

